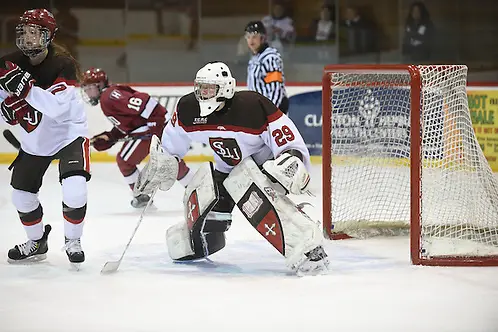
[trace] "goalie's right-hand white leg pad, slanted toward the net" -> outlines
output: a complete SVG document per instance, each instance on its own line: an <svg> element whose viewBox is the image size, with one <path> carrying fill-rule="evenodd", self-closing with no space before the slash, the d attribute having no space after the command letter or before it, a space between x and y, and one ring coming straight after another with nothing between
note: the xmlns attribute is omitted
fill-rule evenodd
<svg viewBox="0 0 498 332"><path fill-rule="evenodd" d="M321 248L319 224L275 190L251 158L235 166L223 184L242 214L286 258L291 269L299 270L310 260L310 252Z"/></svg>

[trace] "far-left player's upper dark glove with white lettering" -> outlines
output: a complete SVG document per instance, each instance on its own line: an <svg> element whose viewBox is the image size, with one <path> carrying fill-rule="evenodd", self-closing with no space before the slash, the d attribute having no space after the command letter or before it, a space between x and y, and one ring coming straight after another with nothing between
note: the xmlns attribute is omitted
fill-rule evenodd
<svg viewBox="0 0 498 332"><path fill-rule="evenodd" d="M10 61L0 63L0 89L24 99L34 82L33 76L18 65Z"/></svg>

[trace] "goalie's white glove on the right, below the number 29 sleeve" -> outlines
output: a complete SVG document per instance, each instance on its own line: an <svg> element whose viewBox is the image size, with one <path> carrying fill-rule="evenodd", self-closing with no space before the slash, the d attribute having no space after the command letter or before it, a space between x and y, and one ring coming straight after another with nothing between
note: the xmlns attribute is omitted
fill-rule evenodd
<svg viewBox="0 0 498 332"><path fill-rule="evenodd" d="M267 174L294 195L306 193L310 182L306 166L297 155L301 154L295 150L286 151L277 159L263 164Z"/></svg>

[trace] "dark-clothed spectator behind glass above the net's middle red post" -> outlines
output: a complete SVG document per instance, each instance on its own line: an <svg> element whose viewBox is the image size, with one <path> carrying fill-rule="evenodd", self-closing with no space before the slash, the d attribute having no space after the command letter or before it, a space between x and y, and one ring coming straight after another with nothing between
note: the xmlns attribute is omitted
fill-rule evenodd
<svg viewBox="0 0 498 332"><path fill-rule="evenodd" d="M430 60L433 37L434 25L427 7L422 2L414 2L406 18L403 55L412 62Z"/></svg>

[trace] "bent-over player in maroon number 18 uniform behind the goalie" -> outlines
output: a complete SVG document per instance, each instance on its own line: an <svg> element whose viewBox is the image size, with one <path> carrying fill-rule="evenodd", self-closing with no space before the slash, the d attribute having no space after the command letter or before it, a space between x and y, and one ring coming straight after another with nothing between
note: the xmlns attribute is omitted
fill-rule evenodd
<svg viewBox="0 0 498 332"><path fill-rule="evenodd" d="M114 125L110 131L92 137L91 144L97 151L104 151L126 139L116 156L116 162L133 190L139 174L137 165L149 154L151 136L161 136L166 125L167 110L147 93L127 85L110 85L102 69L85 71L81 87L85 100L93 106L100 102L102 112ZM179 166L177 179L185 186L189 168L183 161ZM150 196L146 194L136 195L131 205L135 208L144 207L149 199Z"/></svg>

